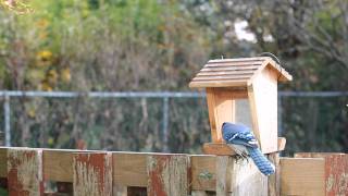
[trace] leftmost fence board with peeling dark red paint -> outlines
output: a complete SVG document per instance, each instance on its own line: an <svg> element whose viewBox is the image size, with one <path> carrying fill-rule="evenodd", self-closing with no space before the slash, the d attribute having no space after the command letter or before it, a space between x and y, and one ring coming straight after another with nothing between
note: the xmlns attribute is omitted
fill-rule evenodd
<svg viewBox="0 0 348 196"><path fill-rule="evenodd" d="M8 185L10 196L44 195L42 151L8 149Z"/></svg>

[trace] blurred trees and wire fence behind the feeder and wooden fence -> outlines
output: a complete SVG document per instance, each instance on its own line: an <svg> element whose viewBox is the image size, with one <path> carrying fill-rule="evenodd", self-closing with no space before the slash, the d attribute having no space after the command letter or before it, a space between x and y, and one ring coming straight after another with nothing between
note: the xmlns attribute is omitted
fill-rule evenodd
<svg viewBox="0 0 348 196"><path fill-rule="evenodd" d="M41 91L1 91L0 131L12 146L199 154L210 127L190 78L264 51L294 76L278 86L286 154L347 152L346 0L0 0L0 89Z"/></svg>

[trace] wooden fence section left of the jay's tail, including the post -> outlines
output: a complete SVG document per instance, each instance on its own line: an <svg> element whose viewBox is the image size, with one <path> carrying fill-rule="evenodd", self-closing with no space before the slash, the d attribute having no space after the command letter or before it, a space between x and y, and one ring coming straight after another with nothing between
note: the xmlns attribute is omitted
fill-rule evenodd
<svg viewBox="0 0 348 196"><path fill-rule="evenodd" d="M72 183L74 195L269 192L269 179L251 160L231 156L1 147L0 177L7 179L10 195L45 195L45 182Z"/></svg>

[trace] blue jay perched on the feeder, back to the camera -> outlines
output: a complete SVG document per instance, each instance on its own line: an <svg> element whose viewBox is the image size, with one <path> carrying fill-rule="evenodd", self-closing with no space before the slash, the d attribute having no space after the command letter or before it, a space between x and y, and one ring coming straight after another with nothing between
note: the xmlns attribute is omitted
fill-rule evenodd
<svg viewBox="0 0 348 196"><path fill-rule="evenodd" d="M271 175L275 172L274 164L264 157L250 128L243 124L223 123L222 135L225 142L241 157L249 155L260 172Z"/></svg>

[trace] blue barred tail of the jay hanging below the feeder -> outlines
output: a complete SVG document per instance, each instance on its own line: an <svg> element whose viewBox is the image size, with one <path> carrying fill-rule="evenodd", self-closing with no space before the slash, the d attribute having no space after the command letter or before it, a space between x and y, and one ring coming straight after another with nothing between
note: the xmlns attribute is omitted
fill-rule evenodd
<svg viewBox="0 0 348 196"><path fill-rule="evenodd" d="M259 168L260 172L265 175L271 175L275 172L275 167L269 161L266 157L261 152L259 148L247 147L251 159L254 164Z"/></svg>

